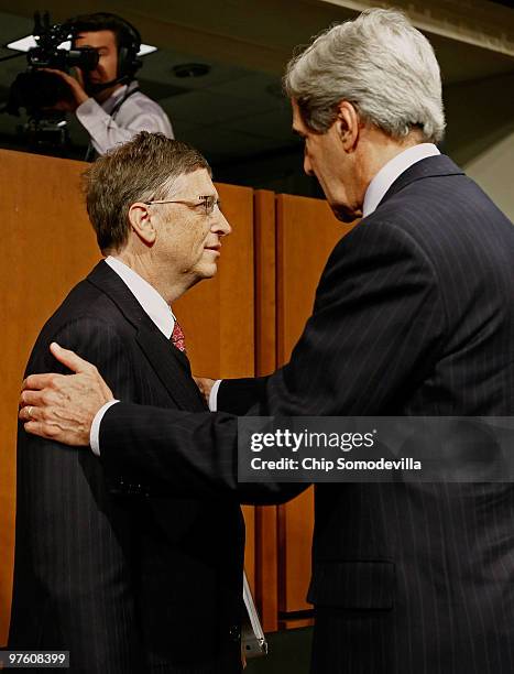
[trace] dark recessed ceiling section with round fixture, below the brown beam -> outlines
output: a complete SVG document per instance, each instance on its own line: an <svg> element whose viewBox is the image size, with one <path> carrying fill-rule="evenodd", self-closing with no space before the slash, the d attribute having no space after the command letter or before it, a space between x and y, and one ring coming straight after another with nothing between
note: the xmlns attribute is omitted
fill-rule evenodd
<svg viewBox="0 0 514 674"><path fill-rule="evenodd" d="M32 22L0 14L0 43L7 44L30 34ZM12 54L0 50L0 58ZM210 70L199 78L179 78L173 66L184 63L208 64ZM143 57L141 89L158 100L167 112L175 135L201 149L211 162L265 152L282 143L291 144L288 104L281 93L278 75L220 63L192 52L160 48ZM0 63L0 101L9 86L24 69L24 57ZM15 138L24 118L0 115L0 134L4 144ZM73 140L87 145L87 134L70 120ZM1 141L0 141L1 142Z"/></svg>

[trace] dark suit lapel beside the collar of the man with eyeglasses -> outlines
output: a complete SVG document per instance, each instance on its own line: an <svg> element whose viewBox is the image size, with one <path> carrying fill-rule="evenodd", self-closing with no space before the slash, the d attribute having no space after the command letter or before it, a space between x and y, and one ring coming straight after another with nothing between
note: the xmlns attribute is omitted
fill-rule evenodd
<svg viewBox="0 0 514 674"><path fill-rule="evenodd" d="M134 326L138 344L176 405L190 411L206 410L192 379L189 360L161 333L120 276L101 261L87 280L106 293Z"/></svg>

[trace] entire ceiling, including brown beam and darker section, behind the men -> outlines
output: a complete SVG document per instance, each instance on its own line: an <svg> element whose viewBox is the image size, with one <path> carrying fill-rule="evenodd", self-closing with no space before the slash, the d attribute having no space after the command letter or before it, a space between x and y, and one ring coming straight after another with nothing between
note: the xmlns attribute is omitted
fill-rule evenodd
<svg viewBox="0 0 514 674"><path fill-rule="evenodd" d="M428 3L429 4L429 3ZM492 4L492 3L489 3ZM0 0L0 44L32 32L29 1ZM54 20L69 13L67 2L46 0ZM291 151L297 141L291 134L288 102L281 94L281 75L294 46L333 21L354 11L315 0L197 0L193 3L146 0L125 2L78 1L74 13L112 11L132 21L145 42L158 51L143 58L141 88L158 100L172 120L175 134L198 146L216 164L240 163ZM504 8L499 8L508 12ZM508 14L514 33L514 10ZM514 57L447 36L430 34L446 86L514 72ZM0 48L0 58L12 52ZM173 66L184 63L210 66L207 75L179 78ZM25 66L24 58L0 63L0 100ZM23 119L0 115L0 144L17 145L17 127ZM70 123L80 156L87 135L78 122Z"/></svg>

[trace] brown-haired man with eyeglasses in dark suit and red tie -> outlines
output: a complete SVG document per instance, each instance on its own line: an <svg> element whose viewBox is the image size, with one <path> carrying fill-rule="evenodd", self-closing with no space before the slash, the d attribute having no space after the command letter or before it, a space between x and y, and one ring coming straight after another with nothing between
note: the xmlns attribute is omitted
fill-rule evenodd
<svg viewBox="0 0 514 674"><path fill-rule="evenodd" d="M230 232L207 161L141 132L85 178L105 260L46 323L26 371L47 370L58 340L123 400L203 412L172 306L216 274ZM92 454L21 427L9 646L67 650L87 674L239 672L243 542L233 499L149 496L130 474L112 494Z"/></svg>

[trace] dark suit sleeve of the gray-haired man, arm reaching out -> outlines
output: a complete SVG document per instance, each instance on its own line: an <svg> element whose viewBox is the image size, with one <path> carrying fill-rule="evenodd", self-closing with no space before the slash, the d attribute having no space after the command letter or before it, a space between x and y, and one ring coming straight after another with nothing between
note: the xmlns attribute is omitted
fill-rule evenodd
<svg viewBox="0 0 514 674"><path fill-rule="evenodd" d="M386 415L437 360L445 326L437 274L419 244L393 224L364 221L333 250L291 361L264 380L248 414ZM100 449L112 475L131 466L169 487L251 502L289 498L291 485L238 483L237 417L227 413L119 403L101 423Z"/></svg>

